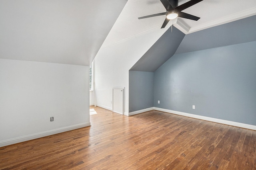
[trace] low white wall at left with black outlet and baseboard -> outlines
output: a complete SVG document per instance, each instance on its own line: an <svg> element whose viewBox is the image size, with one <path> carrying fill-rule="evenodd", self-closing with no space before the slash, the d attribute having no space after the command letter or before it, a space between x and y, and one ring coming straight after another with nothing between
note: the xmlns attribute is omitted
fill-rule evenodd
<svg viewBox="0 0 256 170"><path fill-rule="evenodd" d="M0 147L89 125L89 66L0 59Z"/></svg>

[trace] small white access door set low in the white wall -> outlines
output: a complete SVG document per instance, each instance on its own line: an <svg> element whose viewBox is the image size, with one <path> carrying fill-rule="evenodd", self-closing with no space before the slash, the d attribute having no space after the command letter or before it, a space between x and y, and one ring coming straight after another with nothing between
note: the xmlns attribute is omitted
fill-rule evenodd
<svg viewBox="0 0 256 170"><path fill-rule="evenodd" d="M124 114L124 88L113 88L113 112Z"/></svg>

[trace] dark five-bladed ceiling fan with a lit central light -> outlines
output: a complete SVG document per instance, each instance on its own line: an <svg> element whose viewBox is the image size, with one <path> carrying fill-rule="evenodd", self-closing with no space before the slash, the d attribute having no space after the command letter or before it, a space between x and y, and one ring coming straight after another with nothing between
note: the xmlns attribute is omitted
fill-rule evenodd
<svg viewBox="0 0 256 170"><path fill-rule="evenodd" d="M201 2L202 0L190 0L180 6L178 6L178 0L160 0L160 1L164 5L166 12L162 12L159 14L153 14L153 15L149 15L149 16L144 16L144 17L139 17L138 19L166 15L166 18L165 18L164 23L161 28L164 28L170 20L173 20L177 17L186 18L186 19L195 20L195 21L200 19L197 16L193 16L193 15L187 14L185 12L181 12L181 11L185 10L186 8L188 8L190 6L193 6L194 4L197 4L198 2Z"/></svg>

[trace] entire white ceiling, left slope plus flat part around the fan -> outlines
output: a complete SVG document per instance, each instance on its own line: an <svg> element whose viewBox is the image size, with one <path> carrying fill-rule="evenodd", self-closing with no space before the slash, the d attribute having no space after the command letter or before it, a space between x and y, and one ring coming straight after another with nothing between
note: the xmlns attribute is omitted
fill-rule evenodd
<svg viewBox="0 0 256 170"><path fill-rule="evenodd" d="M101 46L160 29L165 16L138 20L165 12L160 0L126 2L0 0L0 58L89 65ZM180 0L179 5L185 2L188 0ZM183 12L200 17L198 21L173 21L175 27L188 34L253 16L256 0L203 0ZM159 31L164 33L171 23Z"/></svg>

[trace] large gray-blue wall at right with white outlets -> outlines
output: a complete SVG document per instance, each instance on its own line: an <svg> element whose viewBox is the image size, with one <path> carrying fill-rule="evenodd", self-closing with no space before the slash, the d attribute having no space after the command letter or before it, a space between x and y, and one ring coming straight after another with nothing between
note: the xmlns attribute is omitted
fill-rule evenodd
<svg viewBox="0 0 256 170"><path fill-rule="evenodd" d="M172 56L154 72L154 107L256 125L256 41Z"/></svg>

